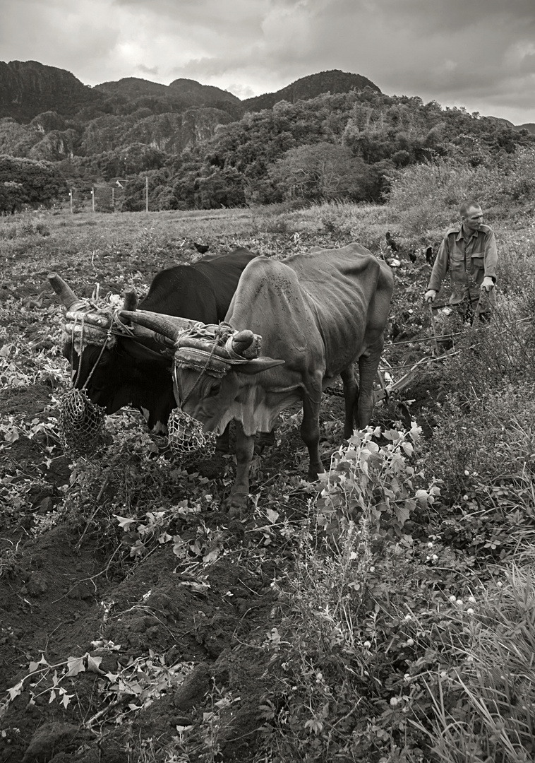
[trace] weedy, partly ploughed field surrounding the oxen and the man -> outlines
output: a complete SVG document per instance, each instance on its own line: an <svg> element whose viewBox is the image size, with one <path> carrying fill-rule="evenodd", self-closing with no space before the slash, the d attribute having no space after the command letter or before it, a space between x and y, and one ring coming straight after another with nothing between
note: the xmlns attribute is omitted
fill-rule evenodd
<svg viewBox="0 0 535 763"><path fill-rule="evenodd" d="M255 459L241 519L221 508L232 455L178 462L136 411L107 417L96 459L59 444L70 381L48 272L81 296L143 295L198 257L193 241L380 255L391 230L396 375L429 353L423 253L448 217L421 214L0 218L1 763L533 759L533 209L489 221L492 327L466 329L349 447L325 394L320 484L297 408Z"/></svg>

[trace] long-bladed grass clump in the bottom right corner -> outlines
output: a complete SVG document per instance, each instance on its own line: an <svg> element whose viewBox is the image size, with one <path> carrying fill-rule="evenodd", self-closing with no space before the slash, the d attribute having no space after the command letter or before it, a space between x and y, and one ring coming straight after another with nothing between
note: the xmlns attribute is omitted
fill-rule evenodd
<svg viewBox="0 0 535 763"><path fill-rule="evenodd" d="M434 723L415 726L428 734L440 763L533 760L533 546L472 599L460 610L468 639L459 664L428 686Z"/></svg>

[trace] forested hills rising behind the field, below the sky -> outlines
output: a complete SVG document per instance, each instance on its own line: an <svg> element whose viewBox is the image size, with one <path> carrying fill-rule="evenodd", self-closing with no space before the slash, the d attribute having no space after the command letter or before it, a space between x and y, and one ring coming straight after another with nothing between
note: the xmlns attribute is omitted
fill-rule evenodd
<svg viewBox="0 0 535 763"><path fill-rule="evenodd" d="M384 95L337 69L240 101L188 79L131 77L91 89L37 62L0 67L0 154L51 163L64 199L68 188L74 198L98 187L103 210L145 208L147 181L154 211L381 201L407 166L440 157L490 166L535 141L505 120ZM24 198L35 194L6 186L2 209L23 208Z"/></svg>

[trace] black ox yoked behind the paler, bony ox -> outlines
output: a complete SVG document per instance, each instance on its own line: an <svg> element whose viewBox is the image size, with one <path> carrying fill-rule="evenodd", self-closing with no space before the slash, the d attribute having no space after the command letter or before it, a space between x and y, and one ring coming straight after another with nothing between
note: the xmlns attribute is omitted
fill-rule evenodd
<svg viewBox="0 0 535 763"><path fill-rule="evenodd" d="M149 293L139 307L155 313L181 316L203 323L223 320L240 275L256 255L245 249L229 254L208 255L193 265L178 265L162 270L152 281ZM74 291L55 273L50 283L66 310L88 311ZM135 292L125 295L123 307L136 310ZM104 329L109 328L108 317ZM105 345L104 343L107 343ZM71 337L63 336L62 354L72 365L75 387L85 388L91 402L104 407L107 414L126 405L143 413L153 433L166 433L167 420L175 407L171 378L171 359L162 355L162 343L154 334L114 336L106 331L100 343L85 343L79 356Z"/></svg>

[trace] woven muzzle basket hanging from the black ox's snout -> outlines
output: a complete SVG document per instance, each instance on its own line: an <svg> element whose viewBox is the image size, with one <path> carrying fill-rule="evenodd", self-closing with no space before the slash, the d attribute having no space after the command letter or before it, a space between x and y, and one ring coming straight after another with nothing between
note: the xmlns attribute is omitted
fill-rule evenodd
<svg viewBox="0 0 535 763"><path fill-rule="evenodd" d="M104 445L104 408L85 391L69 389L59 401L59 442L68 456L94 456Z"/></svg>

